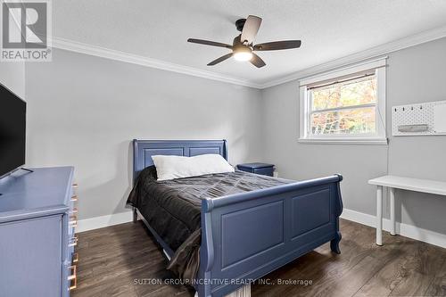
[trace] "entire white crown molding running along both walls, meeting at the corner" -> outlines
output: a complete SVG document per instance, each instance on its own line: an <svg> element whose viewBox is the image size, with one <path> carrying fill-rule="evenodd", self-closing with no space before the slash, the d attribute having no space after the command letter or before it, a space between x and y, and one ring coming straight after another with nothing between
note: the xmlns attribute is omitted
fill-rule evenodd
<svg viewBox="0 0 446 297"><path fill-rule="evenodd" d="M63 50L79 53L79 54L89 54L98 57L116 60L120 62L129 62L137 65L142 65L146 67L156 68L160 70L167 70L177 73L182 73L186 75L192 75L199 78L208 78L213 80L218 80L230 84L240 85L244 87L253 87L258 89L264 89L268 87L274 87L277 85L284 84L286 82L297 80L301 78L308 78L313 75L317 75L321 72L326 72L330 70L336 70L337 68L345 67L357 62L365 62L369 59L375 59L385 54L390 54L392 52L399 51L404 48L408 48L414 45L421 45L435 39L440 39L446 37L446 26L439 28L427 30L409 37L403 37L401 39L392 41L384 45L378 45L368 50L361 51L355 54L347 55L343 58L336 59L330 62L325 62L318 64L316 66L310 67L305 70L299 70L293 72L290 75L284 77L276 78L270 80L266 83L259 84L252 82L247 79L234 78L227 75L218 74L208 70L200 70L194 67L183 66L171 62L161 61L153 58L147 58L145 56L128 54L125 52L120 52L117 50L112 50L97 45L87 45L77 41L72 41L69 39L64 39L60 37L54 37L52 39L52 46L54 48L60 48Z"/></svg>

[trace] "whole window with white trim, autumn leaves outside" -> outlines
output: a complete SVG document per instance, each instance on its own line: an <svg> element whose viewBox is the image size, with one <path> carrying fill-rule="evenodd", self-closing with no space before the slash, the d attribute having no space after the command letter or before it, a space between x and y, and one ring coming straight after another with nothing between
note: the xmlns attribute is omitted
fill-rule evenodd
<svg viewBox="0 0 446 297"><path fill-rule="evenodd" d="M385 60L301 80L300 141L387 144Z"/></svg>

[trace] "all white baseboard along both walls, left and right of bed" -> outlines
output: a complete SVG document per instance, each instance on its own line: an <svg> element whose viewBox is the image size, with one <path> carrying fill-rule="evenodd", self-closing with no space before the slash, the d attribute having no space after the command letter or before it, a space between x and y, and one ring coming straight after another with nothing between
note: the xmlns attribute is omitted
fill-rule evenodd
<svg viewBox="0 0 446 297"><path fill-rule="evenodd" d="M341 215L341 218L348 219L353 222L366 225L369 227L376 227L375 216L359 212L356 210L343 209L343 214ZM131 222L132 220L133 220L132 211L120 212L112 215L95 217L91 219L81 219L78 221L78 227L76 228L76 232L84 232L88 230L119 225ZM384 230L390 231L390 226L391 226L390 219L383 219ZM396 223L395 229L396 233L399 235L446 248L446 235L426 230L420 227L403 224L400 222Z"/></svg>

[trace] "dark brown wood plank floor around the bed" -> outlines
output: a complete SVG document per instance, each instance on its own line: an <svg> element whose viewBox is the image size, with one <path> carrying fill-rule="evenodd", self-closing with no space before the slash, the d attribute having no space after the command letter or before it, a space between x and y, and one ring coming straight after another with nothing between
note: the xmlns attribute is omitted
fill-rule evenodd
<svg viewBox="0 0 446 297"><path fill-rule="evenodd" d="M325 244L264 276L252 296L446 296L446 249L388 233L378 247L374 228L348 220L341 232L340 255ZM183 285L148 283L174 276L140 222L80 233L78 255L74 297L194 296Z"/></svg>

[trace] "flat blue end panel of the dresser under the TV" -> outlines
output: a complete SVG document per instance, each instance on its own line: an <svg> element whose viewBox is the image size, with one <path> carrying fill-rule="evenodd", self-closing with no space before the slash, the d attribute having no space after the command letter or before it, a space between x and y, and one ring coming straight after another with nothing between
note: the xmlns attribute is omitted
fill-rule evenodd
<svg viewBox="0 0 446 297"><path fill-rule="evenodd" d="M0 238L1 296L61 296L61 215L0 224Z"/></svg>

